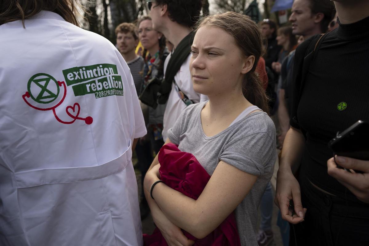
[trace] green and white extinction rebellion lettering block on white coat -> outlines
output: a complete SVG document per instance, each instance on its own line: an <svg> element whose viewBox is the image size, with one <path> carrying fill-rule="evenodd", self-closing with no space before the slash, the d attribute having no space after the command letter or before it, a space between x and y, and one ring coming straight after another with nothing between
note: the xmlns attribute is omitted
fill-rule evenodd
<svg viewBox="0 0 369 246"><path fill-rule="evenodd" d="M96 64L72 67L63 70L67 86L72 86L75 96L95 94L96 98L123 96L122 78L117 66L113 64Z"/></svg>

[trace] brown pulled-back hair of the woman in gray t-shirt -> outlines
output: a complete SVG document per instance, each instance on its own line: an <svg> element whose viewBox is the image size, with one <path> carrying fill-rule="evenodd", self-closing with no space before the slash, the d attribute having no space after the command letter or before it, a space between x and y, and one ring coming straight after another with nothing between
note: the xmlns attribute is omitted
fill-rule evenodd
<svg viewBox="0 0 369 246"><path fill-rule="evenodd" d="M262 55L262 35L255 22L245 15L235 12L225 12L223 14L210 15L196 25L195 31L203 26L222 28L234 38L241 56L255 56L255 62L250 72L245 74L242 82L242 92L245 98L252 104L269 113L268 97L265 94L262 83L255 73L256 66Z"/></svg>

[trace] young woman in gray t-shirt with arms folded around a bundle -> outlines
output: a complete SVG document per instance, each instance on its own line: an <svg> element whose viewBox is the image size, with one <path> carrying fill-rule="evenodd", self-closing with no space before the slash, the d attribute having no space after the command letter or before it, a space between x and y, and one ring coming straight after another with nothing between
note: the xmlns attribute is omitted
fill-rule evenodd
<svg viewBox="0 0 369 246"><path fill-rule="evenodd" d="M145 195L169 245L191 245L181 229L204 238L235 211L241 245L257 246L257 207L276 160L275 127L255 74L261 46L258 27L241 14L208 16L197 25L190 72L194 90L209 100L189 105L166 143L192 153L211 178L193 200L156 183L158 158L151 164Z"/></svg>

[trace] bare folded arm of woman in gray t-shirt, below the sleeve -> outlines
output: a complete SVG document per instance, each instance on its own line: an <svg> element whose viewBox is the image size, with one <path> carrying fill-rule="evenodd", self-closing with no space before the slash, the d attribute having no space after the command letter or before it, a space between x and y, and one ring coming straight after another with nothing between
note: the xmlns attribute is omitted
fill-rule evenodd
<svg viewBox="0 0 369 246"><path fill-rule="evenodd" d="M159 180L158 170L159 165L146 173L146 191L149 192L151 184ZM234 211L256 179L257 176L220 161L197 200L163 183L156 184L152 195L173 224L201 239L214 231Z"/></svg>

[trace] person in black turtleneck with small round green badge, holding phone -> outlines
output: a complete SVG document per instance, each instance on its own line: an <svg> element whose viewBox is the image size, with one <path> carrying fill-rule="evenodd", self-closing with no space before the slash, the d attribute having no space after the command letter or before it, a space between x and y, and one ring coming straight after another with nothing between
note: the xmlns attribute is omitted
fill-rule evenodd
<svg viewBox="0 0 369 246"><path fill-rule="evenodd" d="M337 132L369 121L369 1L334 3L339 27L321 39L303 85L294 81L291 128L277 174L276 204L295 224L290 245L369 245L369 161L336 157L340 166L364 171L349 173L338 169L327 147ZM295 69L316 41L315 35L297 48ZM338 107L342 102L345 108Z"/></svg>

